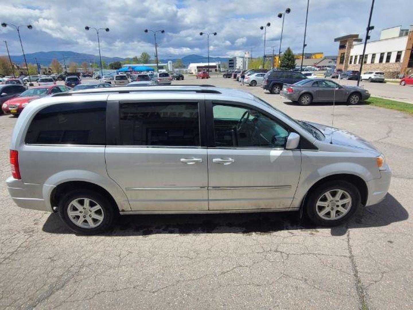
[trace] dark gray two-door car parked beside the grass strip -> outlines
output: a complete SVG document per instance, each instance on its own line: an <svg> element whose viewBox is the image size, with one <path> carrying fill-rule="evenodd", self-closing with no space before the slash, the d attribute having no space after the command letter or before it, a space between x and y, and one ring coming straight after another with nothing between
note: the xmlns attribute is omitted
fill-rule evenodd
<svg viewBox="0 0 413 310"><path fill-rule="evenodd" d="M356 105L370 97L364 88L339 85L329 79L305 79L292 85L284 84L280 95L300 105L333 101Z"/></svg>

